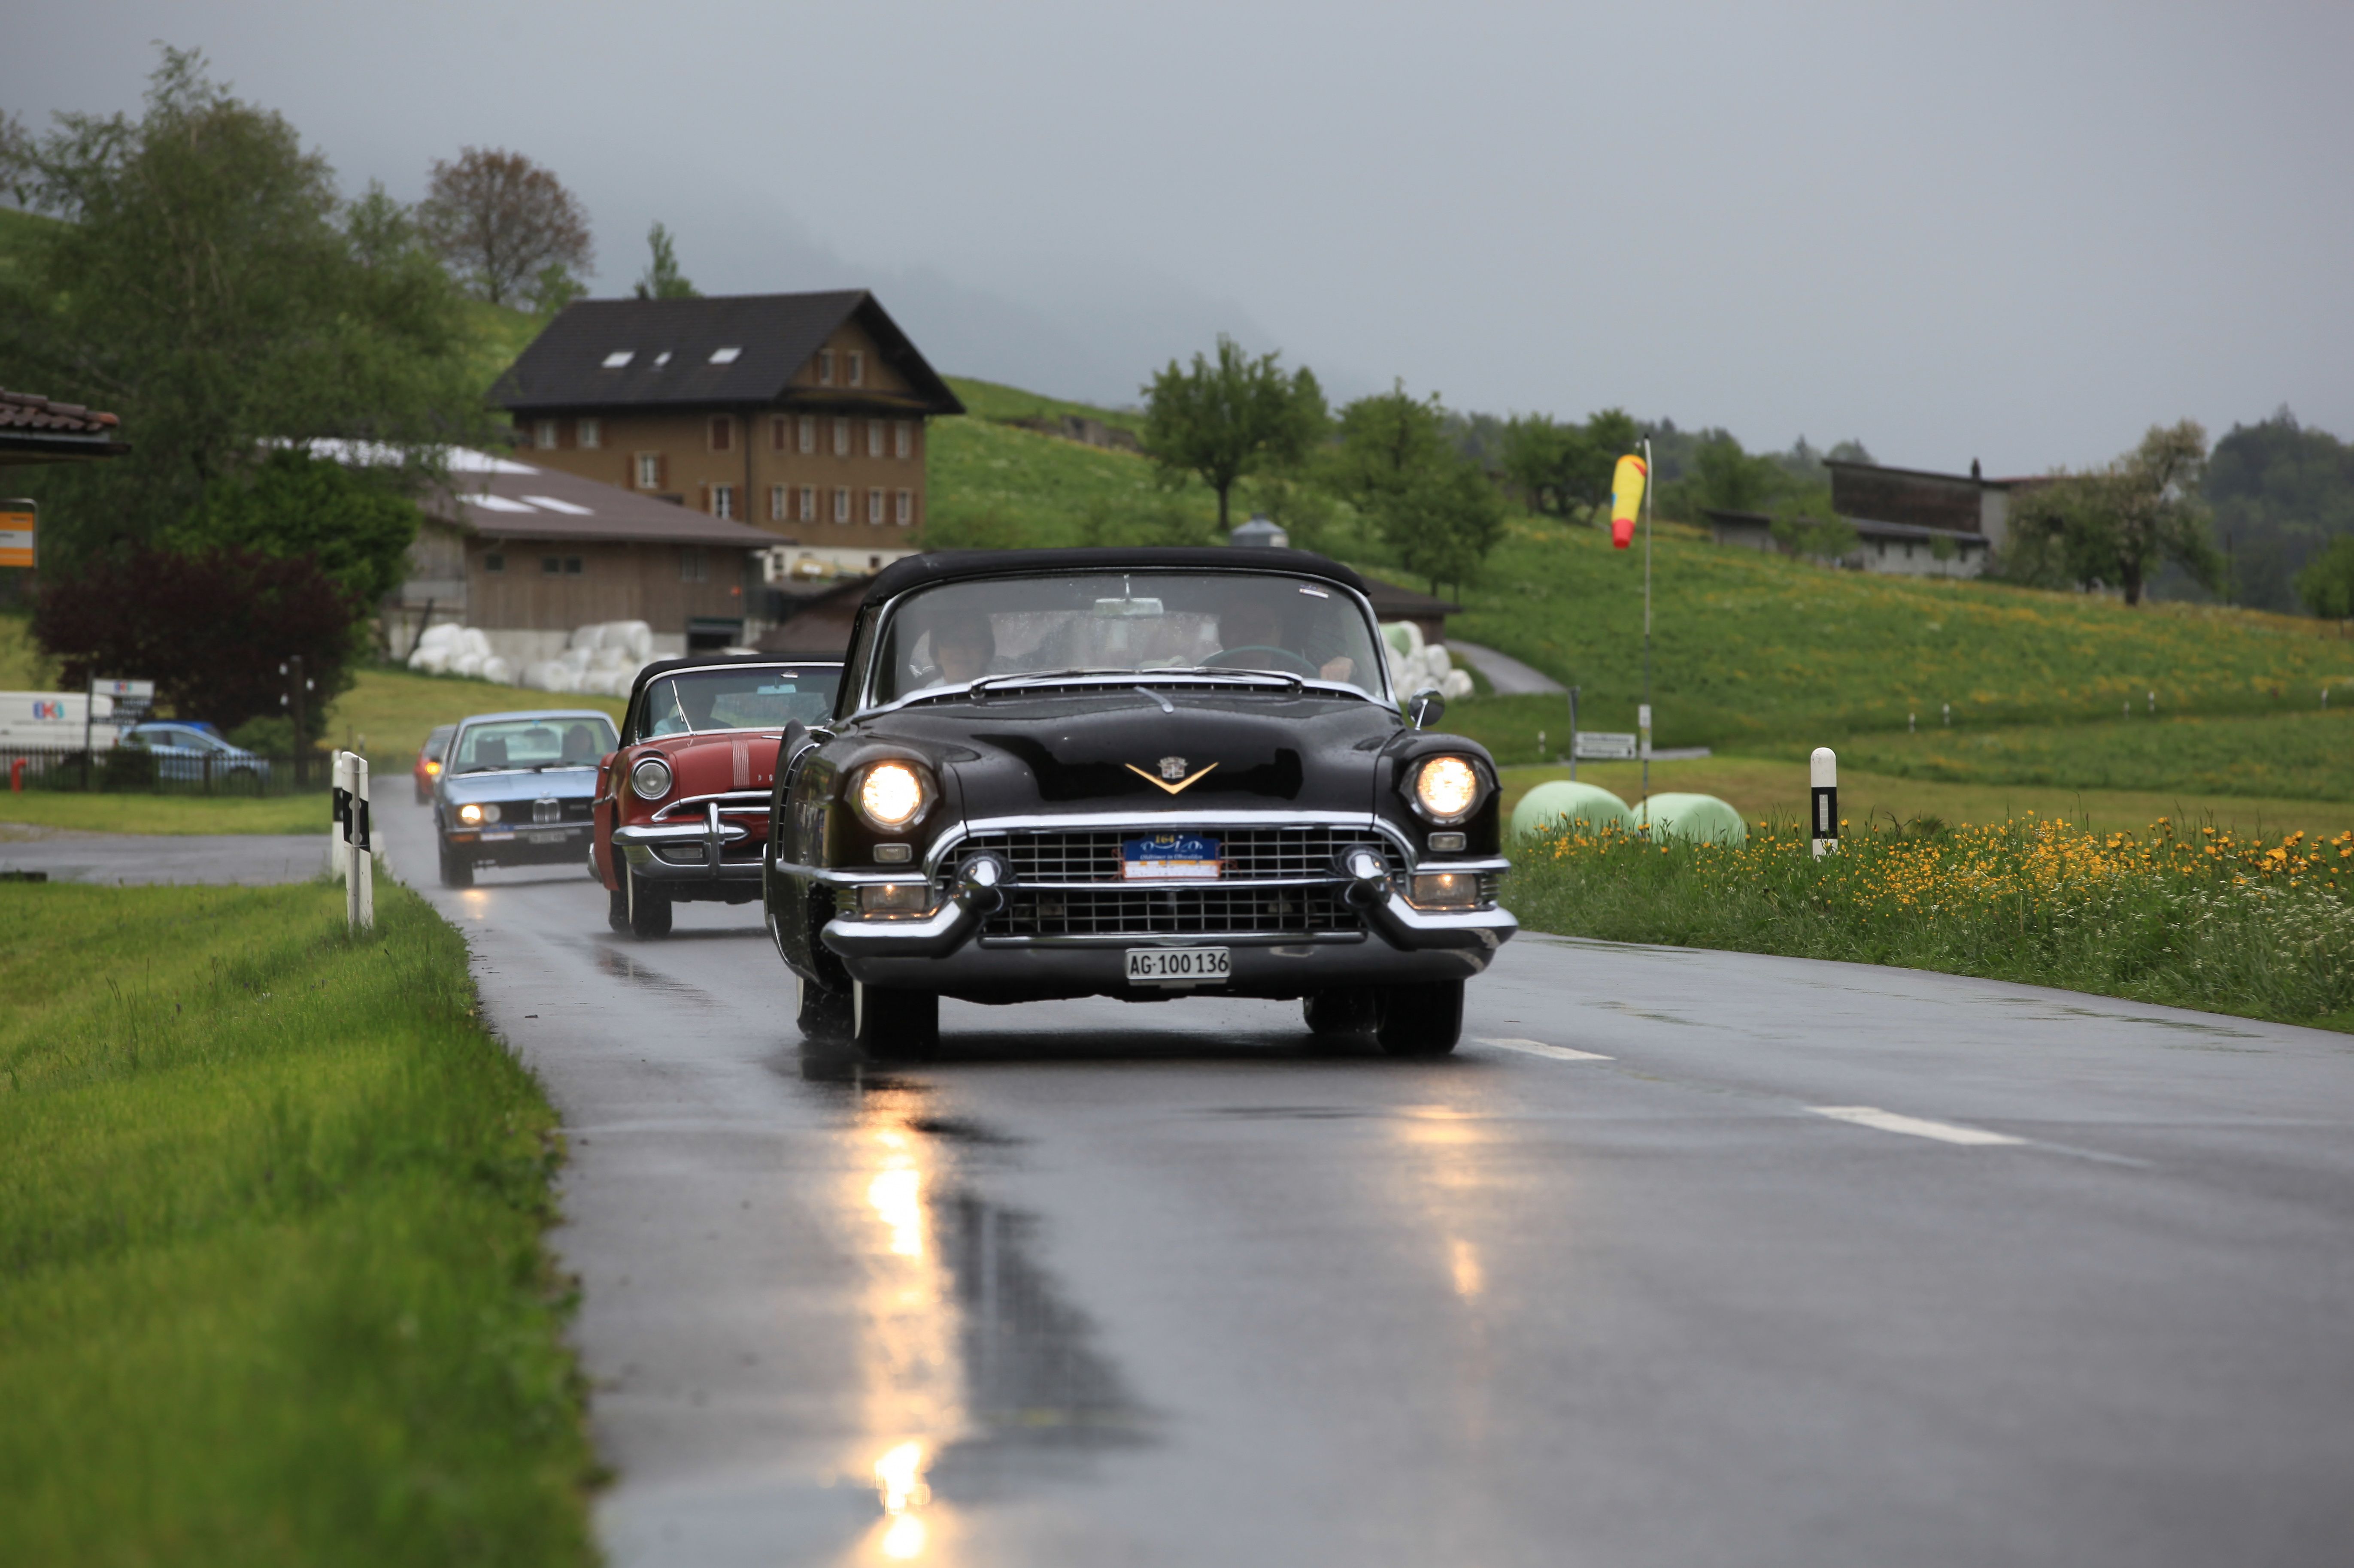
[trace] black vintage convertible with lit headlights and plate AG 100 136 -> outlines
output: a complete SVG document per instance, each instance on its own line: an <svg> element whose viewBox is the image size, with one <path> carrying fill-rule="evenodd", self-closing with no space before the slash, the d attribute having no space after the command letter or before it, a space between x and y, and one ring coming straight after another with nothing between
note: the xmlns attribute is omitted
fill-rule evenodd
<svg viewBox="0 0 2354 1568"><path fill-rule="evenodd" d="M763 904L800 1029L925 1055L939 998L1304 998L1455 1048L1497 909L1495 763L1389 690L1356 572L1302 551L911 556L833 718L791 725Z"/></svg>

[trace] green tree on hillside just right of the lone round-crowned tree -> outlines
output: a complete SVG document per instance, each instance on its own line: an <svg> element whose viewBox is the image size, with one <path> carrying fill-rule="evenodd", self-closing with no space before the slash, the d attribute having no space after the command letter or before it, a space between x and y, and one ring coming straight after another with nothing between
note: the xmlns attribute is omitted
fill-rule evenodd
<svg viewBox="0 0 2354 1568"><path fill-rule="evenodd" d="M1438 398L1394 386L1339 412L1339 450L1328 459L1332 490L1379 530L1415 577L1462 584L1504 534L1504 499L1481 466L1445 438Z"/></svg>

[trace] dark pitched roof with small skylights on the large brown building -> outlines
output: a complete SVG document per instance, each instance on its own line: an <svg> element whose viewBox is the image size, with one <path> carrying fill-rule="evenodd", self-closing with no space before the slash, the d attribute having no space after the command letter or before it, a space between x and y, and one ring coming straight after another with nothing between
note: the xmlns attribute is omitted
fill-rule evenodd
<svg viewBox="0 0 2354 1568"><path fill-rule="evenodd" d="M911 412L963 414L949 384L866 290L826 294L720 294L711 299L581 299L563 308L506 367L490 400L513 412L716 407L777 403L793 374L845 320L857 318L913 393L873 386L803 388ZM713 356L734 348L725 363ZM605 360L629 360L607 367Z"/></svg>

